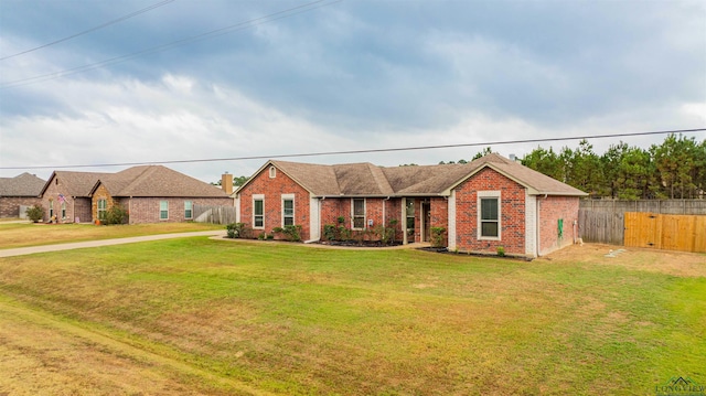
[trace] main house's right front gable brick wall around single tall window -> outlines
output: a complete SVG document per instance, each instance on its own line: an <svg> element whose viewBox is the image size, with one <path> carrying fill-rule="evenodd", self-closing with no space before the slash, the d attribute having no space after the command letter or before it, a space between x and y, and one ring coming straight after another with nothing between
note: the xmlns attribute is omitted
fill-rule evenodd
<svg viewBox="0 0 706 396"><path fill-rule="evenodd" d="M478 238L478 191L500 191L501 239ZM456 188L456 246L462 251L525 254L525 188L485 168Z"/></svg>

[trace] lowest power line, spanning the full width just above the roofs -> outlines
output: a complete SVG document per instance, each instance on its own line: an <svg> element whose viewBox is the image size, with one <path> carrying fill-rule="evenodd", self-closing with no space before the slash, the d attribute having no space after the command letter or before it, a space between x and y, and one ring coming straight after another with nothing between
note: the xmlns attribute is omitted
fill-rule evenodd
<svg viewBox="0 0 706 396"><path fill-rule="evenodd" d="M516 145L516 143L541 143L541 142L547 142L547 141L624 138L624 137L633 137L633 136L688 133L688 132L704 132L704 131L706 131L706 128L661 130L661 131L653 131L653 132L632 132L632 133L612 133L612 135L593 135L593 136L571 136L571 137L563 137L563 138L486 141L486 142L456 143L456 145L440 145L440 146L400 147L400 148L387 148L387 149L321 151L321 152L308 152L308 153L252 156L252 157L232 157L232 158L210 158L210 159L172 160L172 161L121 162L121 163L74 164L74 165L0 167L0 170L66 169L66 168L109 168L109 167L156 165L156 164L168 164L168 163L195 163L195 162L225 162L225 161L269 160L269 159L275 159L275 158L302 158L302 157L362 154L362 153L375 153L375 152L437 150L437 149L451 149L451 148L460 148L460 147L479 147L479 146L488 146L488 147L490 147L490 146L504 146L504 145Z"/></svg>

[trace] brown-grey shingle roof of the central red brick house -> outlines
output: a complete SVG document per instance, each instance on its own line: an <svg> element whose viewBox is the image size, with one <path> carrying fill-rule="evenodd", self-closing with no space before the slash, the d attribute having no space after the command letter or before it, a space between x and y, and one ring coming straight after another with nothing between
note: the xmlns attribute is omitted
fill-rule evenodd
<svg viewBox="0 0 706 396"><path fill-rule="evenodd" d="M578 189L494 153L466 164L394 168L376 167L371 163L320 165L268 161L257 173L269 164L285 172L317 196L448 195L450 190L484 168L494 169L522 184L530 194L587 195Z"/></svg>

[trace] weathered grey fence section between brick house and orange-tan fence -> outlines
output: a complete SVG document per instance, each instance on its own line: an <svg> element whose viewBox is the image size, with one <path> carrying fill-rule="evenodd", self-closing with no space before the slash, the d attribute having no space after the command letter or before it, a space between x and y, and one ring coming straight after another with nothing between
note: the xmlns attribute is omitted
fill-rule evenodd
<svg viewBox="0 0 706 396"><path fill-rule="evenodd" d="M578 235L584 242L622 245L623 229L622 213L578 211Z"/></svg>

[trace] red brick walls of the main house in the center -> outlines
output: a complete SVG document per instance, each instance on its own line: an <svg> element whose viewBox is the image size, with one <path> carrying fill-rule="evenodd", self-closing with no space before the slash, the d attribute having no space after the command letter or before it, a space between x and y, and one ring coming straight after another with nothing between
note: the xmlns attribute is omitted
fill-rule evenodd
<svg viewBox="0 0 706 396"><path fill-rule="evenodd" d="M307 240L312 235L309 229L310 216L314 217L313 224L321 228L321 236L325 225L339 225L339 217L343 218L346 228L353 229L354 197L311 199L308 190L279 170L271 178L269 169L263 169L238 193L240 222L250 226L254 225L253 196L264 197L265 227L261 232L268 234L281 225L282 194L296 196L296 224L302 225L302 239ZM375 228L387 226L391 220L396 220L397 240L403 240L407 232L407 243L431 242L430 229L443 227L442 245L452 249L496 254L498 248L502 247L506 254L528 256L546 255L574 240L579 196L531 195L527 186L491 167L480 169L453 186L450 196L440 196L443 193L409 197L361 196L365 200L364 229L371 228L371 222L372 228ZM481 236L479 205L483 197L499 199L496 237ZM310 208L311 204L315 206ZM414 207L414 228L410 229L407 229L406 217L408 204ZM449 218L450 215L452 218ZM564 227L561 236L557 229L559 218ZM315 237L317 233L313 234ZM449 240L449 237L453 239Z"/></svg>

